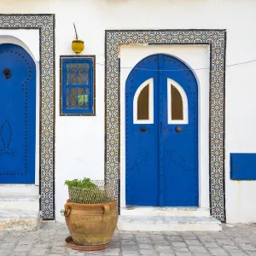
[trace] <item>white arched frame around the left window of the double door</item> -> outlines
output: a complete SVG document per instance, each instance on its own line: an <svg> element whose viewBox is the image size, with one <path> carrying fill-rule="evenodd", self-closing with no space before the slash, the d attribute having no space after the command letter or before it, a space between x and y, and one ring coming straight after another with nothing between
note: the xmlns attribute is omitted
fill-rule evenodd
<svg viewBox="0 0 256 256"><path fill-rule="evenodd" d="M137 99L142 90L148 85L148 119L137 119ZM148 79L141 84L133 98L133 124L154 124L154 79Z"/></svg>

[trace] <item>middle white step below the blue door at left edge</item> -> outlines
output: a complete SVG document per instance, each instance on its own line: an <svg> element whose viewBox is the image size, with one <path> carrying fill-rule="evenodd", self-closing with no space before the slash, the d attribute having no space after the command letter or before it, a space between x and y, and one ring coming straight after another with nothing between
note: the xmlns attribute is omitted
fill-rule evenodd
<svg viewBox="0 0 256 256"><path fill-rule="evenodd" d="M38 211L39 195L0 195L0 211Z"/></svg>

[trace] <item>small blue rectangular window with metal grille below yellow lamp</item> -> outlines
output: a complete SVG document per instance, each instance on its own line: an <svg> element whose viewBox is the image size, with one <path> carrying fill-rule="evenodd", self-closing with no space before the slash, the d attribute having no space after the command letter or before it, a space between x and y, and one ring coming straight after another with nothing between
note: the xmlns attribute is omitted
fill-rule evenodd
<svg viewBox="0 0 256 256"><path fill-rule="evenodd" d="M62 58L61 60L62 113L95 113L94 59Z"/></svg>

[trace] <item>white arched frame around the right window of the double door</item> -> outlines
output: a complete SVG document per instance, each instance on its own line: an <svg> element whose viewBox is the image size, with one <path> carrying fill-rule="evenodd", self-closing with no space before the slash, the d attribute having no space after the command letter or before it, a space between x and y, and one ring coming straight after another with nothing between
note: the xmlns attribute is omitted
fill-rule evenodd
<svg viewBox="0 0 256 256"><path fill-rule="evenodd" d="M176 87L180 93L183 101L183 119L182 120L172 120L172 85ZM183 87L172 79L167 79L167 109L168 109L168 124L189 124L189 107L188 107L188 97L183 90Z"/></svg>

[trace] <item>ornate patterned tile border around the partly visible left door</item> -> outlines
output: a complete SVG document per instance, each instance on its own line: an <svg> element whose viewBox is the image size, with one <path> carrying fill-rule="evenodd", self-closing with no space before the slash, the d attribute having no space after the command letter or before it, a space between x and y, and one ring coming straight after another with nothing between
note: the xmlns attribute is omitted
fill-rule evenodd
<svg viewBox="0 0 256 256"><path fill-rule="evenodd" d="M55 15L0 15L0 29L40 33L40 209L55 218Z"/></svg>

